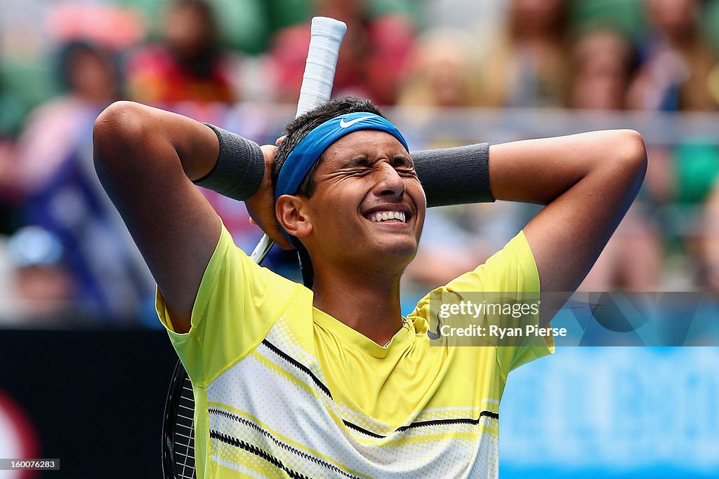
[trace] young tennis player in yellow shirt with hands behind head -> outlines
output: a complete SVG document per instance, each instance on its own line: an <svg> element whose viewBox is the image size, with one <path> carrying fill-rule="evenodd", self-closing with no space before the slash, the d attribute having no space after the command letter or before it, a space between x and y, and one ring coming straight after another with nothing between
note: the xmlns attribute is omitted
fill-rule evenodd
<svg viewBox="0 0 719 479"><path fill-rule="evenodd" d="M198 478L497 475L507 375L551 340L430 346L429 299L401 316L426 202L546 205L440 291L568 292L646 169L635 131L411 155L355 98L297 118L279 149L134 103L110 106L94 134L99 176L157 279L158 314L193 382ZM276 241L306 248L312 289L236 248L191 180L247 200Z"/></svg>

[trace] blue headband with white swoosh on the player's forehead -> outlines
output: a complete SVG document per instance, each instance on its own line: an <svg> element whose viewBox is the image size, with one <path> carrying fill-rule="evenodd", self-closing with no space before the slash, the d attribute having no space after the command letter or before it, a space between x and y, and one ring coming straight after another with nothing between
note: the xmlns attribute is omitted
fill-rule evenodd
<svg viewBox="0 0 719 479"><path fill-rule="evenodd" d="M407 141L400 131L381 116L365 111L337 116L306 134L290 152L275 185L275 201L282 195L295 195L300 183L321 154L342 136L357 130L386 131L409 151Z"/></svg>

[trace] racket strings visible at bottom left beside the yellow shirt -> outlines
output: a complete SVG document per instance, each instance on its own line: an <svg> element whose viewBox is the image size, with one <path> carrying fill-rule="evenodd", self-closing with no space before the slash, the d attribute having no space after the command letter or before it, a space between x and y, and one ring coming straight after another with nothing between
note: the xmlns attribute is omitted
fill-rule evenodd
<svg viewBox="0 0 719 479"><path fill-rule="evenodd" d="M175 421L175 471L178 479L196 479L195 472L195 396L185 376Z"/></svg>

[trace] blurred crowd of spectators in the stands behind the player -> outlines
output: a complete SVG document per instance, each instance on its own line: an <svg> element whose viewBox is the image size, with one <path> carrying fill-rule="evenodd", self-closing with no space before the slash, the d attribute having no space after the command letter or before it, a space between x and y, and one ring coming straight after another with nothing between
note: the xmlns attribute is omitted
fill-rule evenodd
<svg viewBox="0 0 719 479"><path fill-rule="evenodd" d="M154 324L152 278L96 180L94 119L130 99L274 142L298 98L314 15L347 23L334 95L413 111L404 126L416 149L487 141L483 131L428 134L442 115L474 111L464 108L599 118L719 108L719 0L28 0L2 8L0 322ZM521 130L501 136L523 138ZM718 292L718 141L687 136L648 148L640 198L582 288ZM243 205L205 193L238 246L251 249L260 232ZM497 203L429 212L408 269L410 297L484 261L536 210ZM288 254L273 255L273 268L295 274Z"/></svg>

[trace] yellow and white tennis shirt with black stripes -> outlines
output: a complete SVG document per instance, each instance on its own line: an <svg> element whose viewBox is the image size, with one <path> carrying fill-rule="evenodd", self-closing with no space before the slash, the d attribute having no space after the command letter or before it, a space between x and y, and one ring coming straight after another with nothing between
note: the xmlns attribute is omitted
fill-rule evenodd
<svg viewBox="0 0 719 479"><path fill-rule="evenodd" d="M438 289L538 292L523 233ZM553 350L430 345L429 295L388 345L312 306L222 228L186 334L157 313L193 383L198 479L493 478L507 374Z"/></svg>

